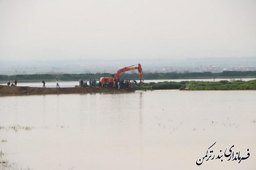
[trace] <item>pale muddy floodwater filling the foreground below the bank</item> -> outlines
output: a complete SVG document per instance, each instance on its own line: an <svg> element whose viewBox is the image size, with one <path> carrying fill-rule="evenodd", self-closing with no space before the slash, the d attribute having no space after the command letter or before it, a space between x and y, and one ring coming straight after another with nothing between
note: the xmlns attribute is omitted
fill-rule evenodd
<svg viewBox="0 0 256 170"><path fill-rule="evenodd" d="M0 97L0 169L256 169L255 104L256 91Z"/></svg>

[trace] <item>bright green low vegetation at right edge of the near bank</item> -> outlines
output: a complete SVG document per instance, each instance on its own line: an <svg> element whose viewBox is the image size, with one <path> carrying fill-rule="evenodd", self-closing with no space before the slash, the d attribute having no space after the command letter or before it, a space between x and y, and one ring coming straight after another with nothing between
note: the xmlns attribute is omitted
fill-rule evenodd
<svg viewBox="0 0 256 170"><path fill-rule="evenodd" d="M256 80L251 81L227 81L196 82L190 81L185 85L187 90L256 90Z"/></svg>

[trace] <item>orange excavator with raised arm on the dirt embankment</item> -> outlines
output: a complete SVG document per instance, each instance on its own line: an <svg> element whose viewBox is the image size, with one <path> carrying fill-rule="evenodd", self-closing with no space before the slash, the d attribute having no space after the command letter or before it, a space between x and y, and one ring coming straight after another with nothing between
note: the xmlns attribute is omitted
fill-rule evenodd
<svg viewBox="0 0 256 170"><path fill-rule="evenodd" d="M108 78L100 78L100 82L103 84L103 87L108 87L108 86L113 86L113 82L114 81L119 81L120 75L122 72L125 71L130 71L130 70L134 70L134 69L138 69L139 71L139 77L140 77L140 83L143 82L143 72L142 72L142 68L140 64L136 64L136 65L131 65L129 67L123 67L121 69L119 69L116 72L116 75L110 75Z"/></svg>

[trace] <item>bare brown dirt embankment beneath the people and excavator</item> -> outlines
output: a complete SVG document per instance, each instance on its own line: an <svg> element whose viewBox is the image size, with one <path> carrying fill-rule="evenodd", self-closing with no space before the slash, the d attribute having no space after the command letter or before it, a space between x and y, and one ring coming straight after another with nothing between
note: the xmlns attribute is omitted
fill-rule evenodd
<svg viewBox="0 0 256 170"><path fill-rule="evenodd" d="M33 95L33 94L84 94L84 93L117 93L133 92L132 89L98 88L98 87L69 87L69 88L40 88L40 87L18 87L0 85L0 96L7 95Z"/></svg>

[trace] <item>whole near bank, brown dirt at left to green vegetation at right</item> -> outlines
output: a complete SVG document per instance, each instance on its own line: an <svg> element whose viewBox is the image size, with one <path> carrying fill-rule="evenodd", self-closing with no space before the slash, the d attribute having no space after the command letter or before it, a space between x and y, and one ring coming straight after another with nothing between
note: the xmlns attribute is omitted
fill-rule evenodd
<svg viewBox="0 0 256 170"><path fill-rule="evenodd" d="M0 85L0 96L8 95L33 95L33 94L72 94L72 93L118 93L134 92L135 90L256 90L256 80L250 81L227 81L202 82L202 81L181 81L181 82L158 82L143 83L134 86L134 89L98 88L98 87L65 87L65 88L41 88L41 87L19 87Z"/></svg>

